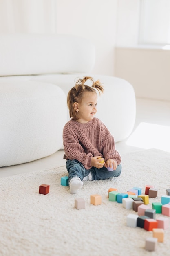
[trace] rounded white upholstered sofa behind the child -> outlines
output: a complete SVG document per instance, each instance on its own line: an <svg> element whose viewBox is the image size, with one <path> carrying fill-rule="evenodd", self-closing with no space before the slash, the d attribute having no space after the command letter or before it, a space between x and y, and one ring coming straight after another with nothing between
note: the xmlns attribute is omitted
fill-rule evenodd
<svg viewBox="0 0 170 256"><path fill-rule="evenodd" d="M124 79L94 75L95 47L71 35L0 34L0 167L31 162L62 148L66 96L77 78L100 79L97 117L126 139L134 127L135 93Z"/></svg>

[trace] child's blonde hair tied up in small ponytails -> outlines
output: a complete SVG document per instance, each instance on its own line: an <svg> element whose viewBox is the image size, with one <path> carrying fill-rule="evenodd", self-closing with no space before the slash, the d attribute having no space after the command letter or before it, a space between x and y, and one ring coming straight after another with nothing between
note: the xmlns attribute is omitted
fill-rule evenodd
<svg viewBox="0 0 170 256"><path fill-rule="evenodd" d="M87 80L90 80L92 82L91 86L85 85L85 82ZM70 118L73 120L77 120L77 112L74 109L74 103L80 103L83 98L84 92L95 92L96 90L99 92L99 94L104 92L104 88L99 80L93 81L93 78L91 76L85 76L83 79L77 80L75 86L71 88L71 90L68 92L67 96L67 106L69 109Z"/></svg>

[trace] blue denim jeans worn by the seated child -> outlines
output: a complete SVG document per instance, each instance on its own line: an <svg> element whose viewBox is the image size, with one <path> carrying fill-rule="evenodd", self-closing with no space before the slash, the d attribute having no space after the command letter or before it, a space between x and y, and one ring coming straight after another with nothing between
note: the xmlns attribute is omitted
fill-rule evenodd
<svg viewBox="0 0 170 256"><path fill-rule="evenodd" d="M96 167L92 167L91 169L86 170L82 163L77 160L66 161L66 168L68 171L68 182L74 177L79 177L83 180L84 177L88 176L91 172L92 180L106 180L112 177L118 177L121 174L121 164L117 165L116 170L108 171L106 167L97 169Z"/></svg>

